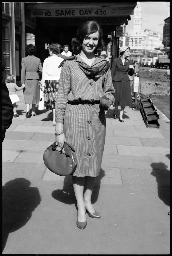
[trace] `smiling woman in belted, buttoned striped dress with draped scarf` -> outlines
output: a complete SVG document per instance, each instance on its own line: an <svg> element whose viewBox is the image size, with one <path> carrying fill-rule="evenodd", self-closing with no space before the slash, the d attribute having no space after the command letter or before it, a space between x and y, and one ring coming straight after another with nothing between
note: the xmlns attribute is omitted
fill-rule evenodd
<svg viewBox="0 0 172 256"><path fill-rule="evenodd" d="M76 225L86 227L89 217L101 218L91 204L96 176L101 169L105 144L107 106L99 97L114 103L110 65L95 55L103 48L102 28L95 21L87 21L72 39L75 54L65 59L55 104L56 143L60 147L67 141L75 148L77 167L72 175L78 214Z"/></svg>

